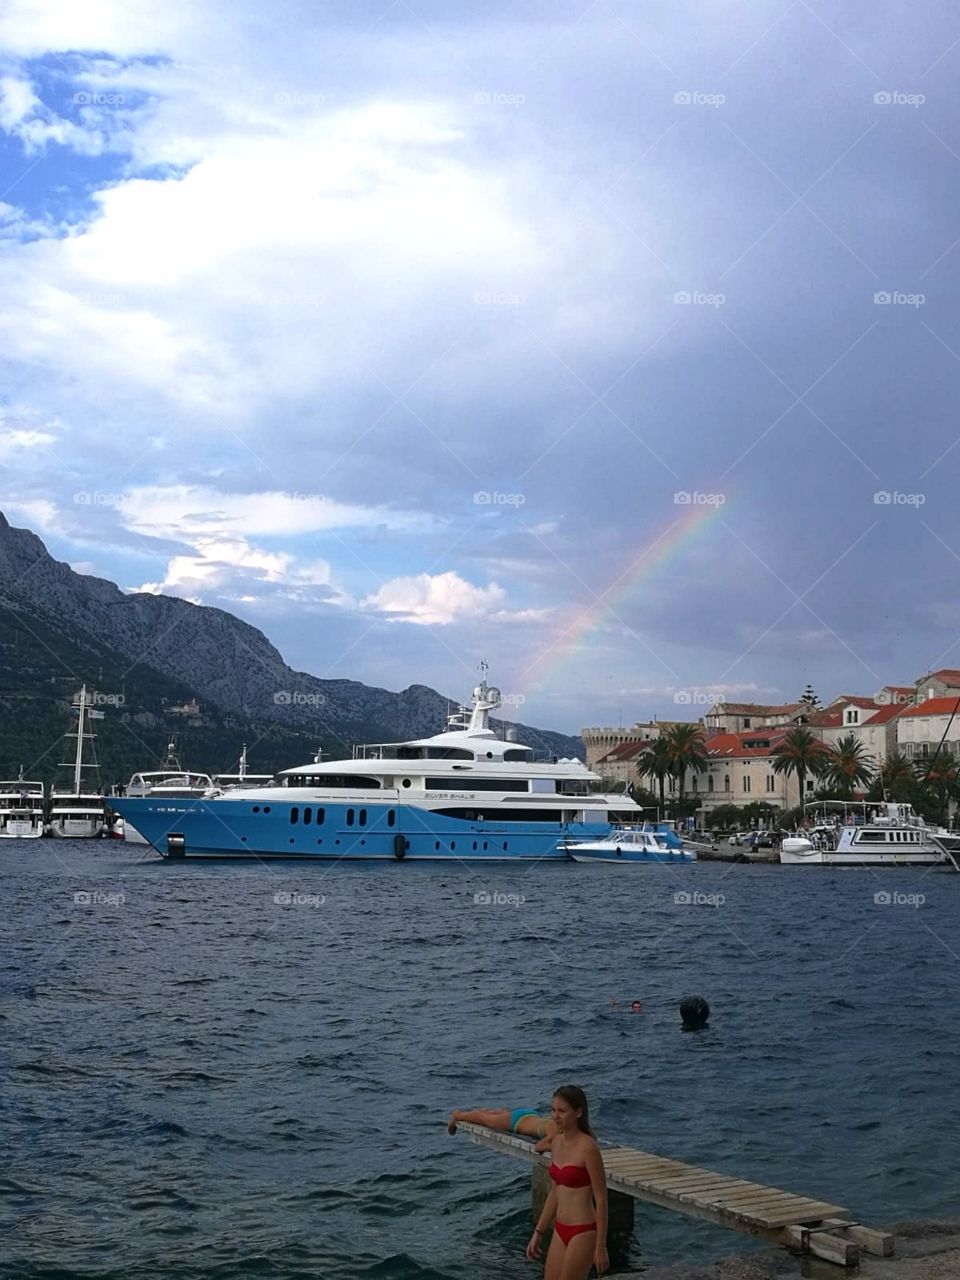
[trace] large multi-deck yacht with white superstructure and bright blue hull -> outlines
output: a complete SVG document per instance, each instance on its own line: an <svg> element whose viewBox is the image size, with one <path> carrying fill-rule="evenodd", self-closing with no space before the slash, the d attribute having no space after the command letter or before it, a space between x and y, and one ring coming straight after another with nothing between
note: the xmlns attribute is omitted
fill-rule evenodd
<svg viewBox="0 0 960 1280"><path fill-rule="evenodd" d="M499 690L484 677L472 709L408 742L358 746L271 787L205 799L128 794L114 806L168 858L563 859L568 838L636 822L639 806L594 792L580 760L538 760L490 727Z"/></svg>

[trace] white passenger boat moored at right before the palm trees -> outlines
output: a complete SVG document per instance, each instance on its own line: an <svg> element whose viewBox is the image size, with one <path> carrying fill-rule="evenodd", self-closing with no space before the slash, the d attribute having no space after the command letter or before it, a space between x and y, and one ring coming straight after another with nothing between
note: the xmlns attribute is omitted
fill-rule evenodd
<svg viewBox="0 0 960 1280"><path fill-rule="evenodd" d="M788 867L931 867L946 861L932 829L913 805L818 801L836 822L820 822L805 836L787 836L780 850ZM842 810L842 814L841 814Z"/></svg>

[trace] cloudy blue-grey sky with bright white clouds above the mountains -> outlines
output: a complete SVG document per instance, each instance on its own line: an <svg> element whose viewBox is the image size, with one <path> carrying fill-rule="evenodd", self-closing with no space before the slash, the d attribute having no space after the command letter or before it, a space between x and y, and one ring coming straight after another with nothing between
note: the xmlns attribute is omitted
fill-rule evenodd
<svg viewBox="0 0 960 1280"><path fill-rule="evenodd" d="M287 660L960 666L960 9L6 0L0 509Z"/></svg>

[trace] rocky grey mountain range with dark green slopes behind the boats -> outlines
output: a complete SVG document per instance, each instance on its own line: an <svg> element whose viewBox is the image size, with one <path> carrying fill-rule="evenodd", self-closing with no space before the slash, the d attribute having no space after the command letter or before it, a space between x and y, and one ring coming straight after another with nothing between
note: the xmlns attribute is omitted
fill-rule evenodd
<svg viewBox="0 0 960 1280"><path fill-rule="evenodd" d="M229 771L247 741L260 773L303 763L317 745L339 755L357 741L436 733L460 700L294 671L232 613L77 573L0 513L0 776L19 764L50 776L82 681L104 709L101 763L118 774L156 767L174 730L184 767ZM511 727L552 755L584 755L580 739Z"/></svg>

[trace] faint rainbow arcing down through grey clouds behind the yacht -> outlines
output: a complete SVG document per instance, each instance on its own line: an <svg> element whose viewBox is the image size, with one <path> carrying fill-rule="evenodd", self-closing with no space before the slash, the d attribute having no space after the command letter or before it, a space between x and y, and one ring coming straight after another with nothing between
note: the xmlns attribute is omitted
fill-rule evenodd
<svg viewBox="0 0 960 1280"><path fill-rule="evenodd" d="M692 494L691 497L698 497ZM547 645L521 676L521 687L531 692L549 685L554 673L586 649L591 632L607 620L616 620L620 607L650 582L657 571L676 562L690 547L700 541L727 511L728 503L691 503L640 552L631 553L628 563L613 581L598 593L577 617Z"/></svg>

